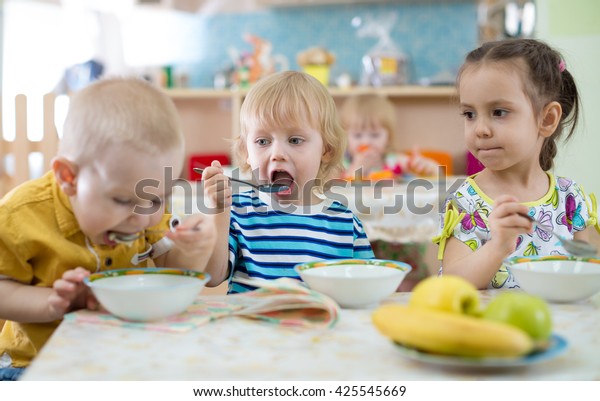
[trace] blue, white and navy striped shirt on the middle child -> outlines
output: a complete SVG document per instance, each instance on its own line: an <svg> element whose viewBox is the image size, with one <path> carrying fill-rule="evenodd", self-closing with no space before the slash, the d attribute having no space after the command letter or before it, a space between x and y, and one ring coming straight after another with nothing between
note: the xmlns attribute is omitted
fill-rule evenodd
<svg viewBox="0 0 600 401"><path fill-rule="evenodd" d="M254 289L235 282L236 277L299 278L298 263L351 258L374 255L360 220L341 203L278 205L255 191L233 195L229 293Z"/></svg>

